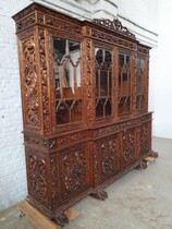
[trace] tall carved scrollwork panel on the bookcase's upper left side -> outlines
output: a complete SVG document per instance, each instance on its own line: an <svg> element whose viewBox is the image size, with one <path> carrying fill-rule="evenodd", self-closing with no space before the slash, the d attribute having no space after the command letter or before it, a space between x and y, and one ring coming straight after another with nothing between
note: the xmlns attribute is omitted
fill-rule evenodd
<svg viewBox="0 0 172 229"><path fill-rule="evenodd" d="M40 128L38 75L36 71L35 38L28 37L22 41L23 48L23 73L24 88L23 96L26 105L25 124L33 128Z"/></svg>

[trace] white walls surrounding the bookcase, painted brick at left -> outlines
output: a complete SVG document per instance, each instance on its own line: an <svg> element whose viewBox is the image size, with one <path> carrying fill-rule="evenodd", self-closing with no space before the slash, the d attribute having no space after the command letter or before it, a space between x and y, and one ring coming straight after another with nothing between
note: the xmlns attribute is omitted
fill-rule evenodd
<svg viewBox="0 0 172 229"><path fill-rule="evenodd" d="M172 138L171 53L168 46L172 40L168 26L170 20L172 21L170 16L172 3L168 0L36 1L78 19L119 16L123 25L135 33L139 40L151 47L157 47L159 1L160 39L159 48L153 48L150 52L149 110L155 110L155 135ZM0 4L0 209L20 202L27 194L23 134L21 133L23 126L17 47L15 24L11 16L30 2L32 0L5 0Z"/></svg>

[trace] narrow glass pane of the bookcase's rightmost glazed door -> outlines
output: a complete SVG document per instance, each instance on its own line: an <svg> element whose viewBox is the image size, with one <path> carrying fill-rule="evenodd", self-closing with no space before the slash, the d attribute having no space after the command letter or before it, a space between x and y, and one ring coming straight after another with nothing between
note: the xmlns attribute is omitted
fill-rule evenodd
<svg viewBox="0 0 172 229"><path fill-rule="evenodd" d="M137 80L136 80L136 91L137 91L137 100L136 109L144 108L144 82L145 82L145 59L137 57Z"/></svg>

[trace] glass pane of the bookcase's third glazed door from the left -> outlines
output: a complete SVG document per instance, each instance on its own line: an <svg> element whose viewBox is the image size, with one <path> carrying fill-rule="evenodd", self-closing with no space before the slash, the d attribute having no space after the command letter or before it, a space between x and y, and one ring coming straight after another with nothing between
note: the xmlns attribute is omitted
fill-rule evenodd
<svg viewBox="0 0 172 229"><path fill-rule="evenodd" d="M131 110L131 56L119 55L119 114Z"/></svg>

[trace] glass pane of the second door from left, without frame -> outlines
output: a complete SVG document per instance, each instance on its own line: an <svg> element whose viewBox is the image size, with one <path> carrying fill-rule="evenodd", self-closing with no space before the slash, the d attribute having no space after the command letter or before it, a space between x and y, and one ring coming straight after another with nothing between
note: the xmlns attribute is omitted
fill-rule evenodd
<svg viewBox="0 0 172 229"><path fill-rule="evenodd" d="M111 51L102 48L95 49L96 65L96 118L111 116Z"/></svg>

